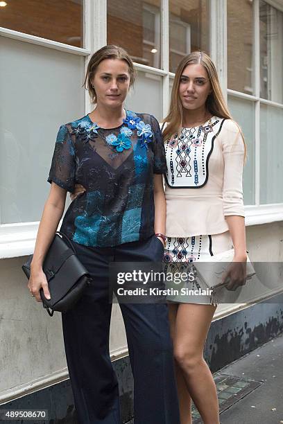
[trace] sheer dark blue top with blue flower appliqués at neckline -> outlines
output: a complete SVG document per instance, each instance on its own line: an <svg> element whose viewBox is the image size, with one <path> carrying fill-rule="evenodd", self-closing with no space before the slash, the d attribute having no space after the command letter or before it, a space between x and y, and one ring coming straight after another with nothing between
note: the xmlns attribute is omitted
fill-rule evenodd
<svg viewBox="0 0 283 424"><path fill-rule="evenodd" d="M166 172L164 143L154 116L126 111L117 128L88 115L62 125L48 182L73 192L61 231L80 245L111 247L154 233L153 174Z"/></svg>

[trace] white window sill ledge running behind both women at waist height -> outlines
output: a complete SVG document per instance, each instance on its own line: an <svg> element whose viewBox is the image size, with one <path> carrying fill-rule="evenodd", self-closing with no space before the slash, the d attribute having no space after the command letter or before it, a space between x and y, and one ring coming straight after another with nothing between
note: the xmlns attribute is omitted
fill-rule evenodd
<svg viewBox="0 0 283 424"><path fill-rule="evenodd" d="M283 204L246 206L246 226L283 221ZM33 253L39 222L0 225L0 259ZM60 228L61 223L58 228Z"/></svg>

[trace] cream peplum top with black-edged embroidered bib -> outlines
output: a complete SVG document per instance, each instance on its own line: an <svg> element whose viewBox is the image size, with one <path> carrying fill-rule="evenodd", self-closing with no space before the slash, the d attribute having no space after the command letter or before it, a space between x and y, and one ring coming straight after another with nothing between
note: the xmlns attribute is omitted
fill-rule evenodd
<svg viewBox="0 0 283 424"><path fill-rule="evenodd" d="M228 231L225 216L245 216L244 144L234 121L213 116L165 143L166 236Z"/></svg>

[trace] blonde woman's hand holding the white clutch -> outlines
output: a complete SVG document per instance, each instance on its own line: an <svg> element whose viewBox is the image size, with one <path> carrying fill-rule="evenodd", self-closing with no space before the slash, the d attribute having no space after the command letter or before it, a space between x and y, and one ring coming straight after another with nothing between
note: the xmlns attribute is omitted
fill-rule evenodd
<svg viewBox="0 0 283 424"><path fill-rule="evenodd" d="M227 290L237 290L241 285L246 284L247 256L234 256L227 272L223 276L223 283Z"/></svg>

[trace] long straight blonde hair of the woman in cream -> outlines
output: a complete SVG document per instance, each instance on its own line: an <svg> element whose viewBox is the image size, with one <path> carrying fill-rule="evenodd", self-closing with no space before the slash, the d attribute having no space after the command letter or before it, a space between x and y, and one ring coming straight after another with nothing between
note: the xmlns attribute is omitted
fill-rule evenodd
<svg viewBox="0 0 283 424"><path fill-rule="evenodd" d="M172 134L180 132L180 128L182 127L183 108L179 94L179 86L182 72L189 64L202 64L207 71L209 82L212 87L212 92L207 96L207 100L205 103L207 111L212 114L212 116L218 116L219 118L233 120L232 115L230 114L223 98L221 86L218 80L218 75L214 63L212 62L211 58L209 58L209 55L207 55L207 53L203 51L193 51L192 53L189 53L189 55L182 58L181 62L178 64L178 68L175 73L173 88L171 92L169 114L162 121L164 123L167 123L163 130L164 141L170 139ZM238 124L237 126L239 127ZM241 136L243 137L241 127L239 127L239 131L241 132ZM246 158L246 143L244 141L244 138L243 143L245 147Z"/></svg>

